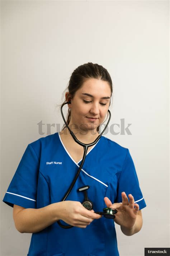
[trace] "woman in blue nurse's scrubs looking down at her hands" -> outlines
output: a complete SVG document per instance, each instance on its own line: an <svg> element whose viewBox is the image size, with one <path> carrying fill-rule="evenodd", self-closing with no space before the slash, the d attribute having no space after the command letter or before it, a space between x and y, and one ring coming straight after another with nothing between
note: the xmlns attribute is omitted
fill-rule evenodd
<svg viewBox="0 0 170 256"><path fill-rule="evenodd" d="M87 63L74 70L65 99L70 102L67 124L78 140L89 144L99 136L111 97L107 69ZM16 229L33 233L29 256L117 256L114 222L125 235L141 230L146 203L133 160L127 148L104 136L88 149L74 187L61 201L83 152L67 127L28 144L3 201L13 207ZM87 185L91 210L82 206L84 193L77 191ZM105 207L116 208L115 219L95 213ZM61 228L58 220L73 227Z"/></svg>

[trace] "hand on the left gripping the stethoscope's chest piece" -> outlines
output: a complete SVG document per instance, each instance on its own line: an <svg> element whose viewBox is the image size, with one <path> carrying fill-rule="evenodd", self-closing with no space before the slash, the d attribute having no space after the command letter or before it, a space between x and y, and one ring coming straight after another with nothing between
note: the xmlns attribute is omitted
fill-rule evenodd
<svg viewBox="0 0 170 256"><path fill-rule="evenodd" d="M59 202L58 217L71 226L86 228L94 219L100 219L102 215L95 214L94 210L87 210L80 202Z"/></svg>

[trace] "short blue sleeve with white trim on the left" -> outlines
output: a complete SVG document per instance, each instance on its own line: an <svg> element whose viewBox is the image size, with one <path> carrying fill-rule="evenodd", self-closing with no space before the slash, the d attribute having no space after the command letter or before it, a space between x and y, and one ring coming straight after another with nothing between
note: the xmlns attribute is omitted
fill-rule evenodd
<svg viewBox="0 0 170 256"><path fill-rule="evenodd" d="M3 202L14 207L36 208L39 160L33 147L28 144L5 193Z"/></svg>

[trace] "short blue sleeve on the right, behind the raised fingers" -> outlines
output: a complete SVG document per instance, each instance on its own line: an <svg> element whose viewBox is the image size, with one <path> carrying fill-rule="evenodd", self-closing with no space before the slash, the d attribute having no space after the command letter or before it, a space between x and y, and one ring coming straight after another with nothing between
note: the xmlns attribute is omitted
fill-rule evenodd
<svg viewBox="0 0 170 256"><path fill-rule="evenodd" d="M127 149L122 171L120 172L120 176L118 178L117 198L115 199L115 202L122 202L122 192L125 192L127 197L128 194L132 194L134 197L134 202L140 207L139 210L146 207L129 149Z"/></svg>

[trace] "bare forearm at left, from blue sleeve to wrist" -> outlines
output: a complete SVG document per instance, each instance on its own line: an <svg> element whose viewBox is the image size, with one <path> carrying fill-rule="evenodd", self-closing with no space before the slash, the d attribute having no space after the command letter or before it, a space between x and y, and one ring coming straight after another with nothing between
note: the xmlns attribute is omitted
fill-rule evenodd
<svg viewBox="0 0 170 256"><path fill-rule="evenodd" d="M16 215L15 227L20 233L36 233L59 220L61 202L39 209L26 208Z"/></svg>

